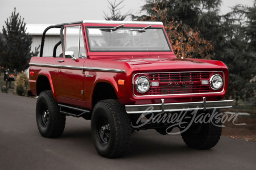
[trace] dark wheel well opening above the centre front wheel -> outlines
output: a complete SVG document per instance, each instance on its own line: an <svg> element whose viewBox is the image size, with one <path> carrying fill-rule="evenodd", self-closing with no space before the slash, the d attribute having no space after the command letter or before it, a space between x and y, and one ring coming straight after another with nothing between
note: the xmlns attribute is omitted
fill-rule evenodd
<svg viewBox="0 0 256 170"><path fill-rule="evenodd" d="M100 82L97 83L94 91L93 91L93 97L92 97L92 107L96 105L96 103L100 100L106 100L106 99L117 99L117 94L115 94L115 90L112 87L111 84Z"/></svg>

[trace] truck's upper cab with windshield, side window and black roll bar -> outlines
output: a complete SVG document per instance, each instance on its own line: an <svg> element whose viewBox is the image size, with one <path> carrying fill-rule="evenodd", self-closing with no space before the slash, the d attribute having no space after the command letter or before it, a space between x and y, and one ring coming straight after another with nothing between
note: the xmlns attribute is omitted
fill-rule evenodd
<svg viewBox="0 0 256 170"><path fill-rule="evenodd" d="M40 57L43 56L44 40L46 32L51 28L60 29L60 41L53 48L53 57L56 57L56 49L61 45L62 52L70 50L67 47L67 37L76 39L79 37L78 52L84 52L84 57L100 56L102 52L106 56L129 53L146 52L152 54L170 54L172 52L170 42L164 31L162 22L137 22L137 21L109 21L109 20L82 20L79 22L56 24L47 27L42 36ZM76 31L75 29L80 29ZM68 31L67 31L68 30ZM72 30L75 30L72 31ZM67 33L69 36L67 36ZM77 35L76 35L77 34ZM80 41L81 40L81 41ZM69 40L74 43L75 41ZM76 46L76 45L75 45ZM74 47L71 46L71 47ZM74 51L74 50L72 50ZM58 54L57 56L62 56ZM78 55L79 56L79 55Z"/></svg>

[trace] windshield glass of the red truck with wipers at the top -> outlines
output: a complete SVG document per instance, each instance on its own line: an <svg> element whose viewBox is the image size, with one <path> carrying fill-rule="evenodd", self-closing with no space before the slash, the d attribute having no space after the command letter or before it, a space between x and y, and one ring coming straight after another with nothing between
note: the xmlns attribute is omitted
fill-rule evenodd
<svg viewBox="0 0 256 170"><path fill-rule="evenodd" d="M86 27L90 52L170 52L162 28Z"/></svg>

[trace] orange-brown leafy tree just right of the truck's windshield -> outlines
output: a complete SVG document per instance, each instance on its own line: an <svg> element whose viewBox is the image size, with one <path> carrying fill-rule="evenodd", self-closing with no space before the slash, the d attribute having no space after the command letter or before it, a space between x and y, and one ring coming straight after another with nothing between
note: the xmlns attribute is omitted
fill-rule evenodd
<svg viewBox="0 0 256 170"><path fill-rule="evenodd" d="M157 2L151 9L154 12L152 12L150 18L142 16L140 20L163 22L172 49L177 57L209 59L213 52L213 45L204 39L198 28L191 28L179 20L170 20L165 6L166 1Z"/></svg>

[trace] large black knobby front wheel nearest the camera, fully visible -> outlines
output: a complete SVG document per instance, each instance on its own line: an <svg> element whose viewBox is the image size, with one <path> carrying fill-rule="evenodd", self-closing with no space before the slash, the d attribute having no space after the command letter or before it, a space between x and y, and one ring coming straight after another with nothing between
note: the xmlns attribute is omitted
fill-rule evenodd
<svg viewBox="0 0 256 170"><path fill-rule="evenodd" d="M92 113L92 138L97 152L106 158L117 158L130 146L131 121L118 100L101 100Z"/></svg>

